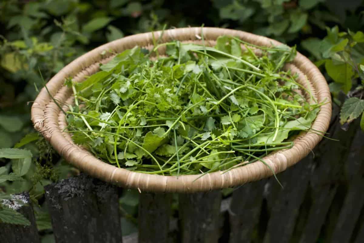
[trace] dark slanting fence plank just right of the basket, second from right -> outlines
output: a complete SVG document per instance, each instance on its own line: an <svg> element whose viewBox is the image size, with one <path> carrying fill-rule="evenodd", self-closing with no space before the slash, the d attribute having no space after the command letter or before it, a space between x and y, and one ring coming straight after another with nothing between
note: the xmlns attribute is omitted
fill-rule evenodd
<svg viewBox="0 0 364 243"><path fill-rule="evenodd" d="M329 137L339 139L340 142L324 138L314 150L314 168L310 180L313 201L300 243L317 241L340 184L339 177L340 171L343 170L343 161L346 161L348 157L348 148L350 148L355 129L351 128L347 132L342 130L338 114L338 109L335 107L333 122L328 132Z"/></svg>

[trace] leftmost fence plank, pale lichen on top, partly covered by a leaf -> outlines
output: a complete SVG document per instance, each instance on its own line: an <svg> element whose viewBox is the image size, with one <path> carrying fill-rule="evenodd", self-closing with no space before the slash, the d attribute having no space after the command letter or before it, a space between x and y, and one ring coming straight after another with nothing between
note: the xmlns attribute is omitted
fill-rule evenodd
<svg viewBox="0 0 364 243"><path fill-rule="evenodd" d="M21 204L19 203L21 201ZM39 235L35 217L28 193L12 195L11 199L3 201L12 209L23 214L31 223L30 226L0 223L1 243L39 243Z"/></svg>

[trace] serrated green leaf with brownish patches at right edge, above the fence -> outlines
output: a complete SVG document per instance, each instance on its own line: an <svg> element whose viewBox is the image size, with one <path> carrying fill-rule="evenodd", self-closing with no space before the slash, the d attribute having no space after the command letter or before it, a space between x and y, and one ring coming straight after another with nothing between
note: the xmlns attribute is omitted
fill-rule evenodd
<svg viewBox="0 0 364 243"><path fill-rule="evenodd" d="M340 111L340 123L350 123L364 111L364 100L357 97L347 99Z"/></svg>

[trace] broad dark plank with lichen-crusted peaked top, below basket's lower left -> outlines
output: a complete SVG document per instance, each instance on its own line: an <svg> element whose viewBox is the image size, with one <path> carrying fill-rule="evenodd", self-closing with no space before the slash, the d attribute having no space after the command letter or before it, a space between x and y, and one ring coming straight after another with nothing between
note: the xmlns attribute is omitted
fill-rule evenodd
<svg viewBox="0 0 364 243"><path fill-rule="evenodd" d="M81 175L44 189L57 243L122 242L116 187Z"/></svg>

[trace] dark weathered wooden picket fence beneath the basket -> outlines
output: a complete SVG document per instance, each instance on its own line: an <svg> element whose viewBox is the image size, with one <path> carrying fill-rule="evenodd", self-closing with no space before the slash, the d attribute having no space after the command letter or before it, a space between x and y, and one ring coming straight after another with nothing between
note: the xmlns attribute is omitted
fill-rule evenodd
<svg viewBox="0 0 364 243"><path fill-rule="evenodd" d="M337 113L336 113L337 114ZM345 132L337 117L315 151L278 175L220 191L178 195L140 193L139 234L122 236L118 192L86 175L46 186L56 242L364 242L364 134ZM30 205L19 209L30 227L0 224L0 242L40 242Z"/></svg>

